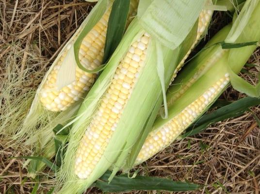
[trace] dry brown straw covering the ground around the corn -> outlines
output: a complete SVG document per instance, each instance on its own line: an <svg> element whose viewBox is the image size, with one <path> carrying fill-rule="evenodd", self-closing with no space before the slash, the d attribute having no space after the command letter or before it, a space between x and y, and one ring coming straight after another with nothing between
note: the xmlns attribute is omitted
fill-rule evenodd
<svg viewBox="0 0 260 194"><path fill-rule="evenodd" d="M28 91L35 91L57 53L90 9L91 4L83 0L0 0L0 91L10 80L17 82L16 90L8 96L3 97L0 92L0 117L8 111L6 97L12 101ZM230 18L226 14L216 14L210 36L228 21ZM260 50L249 63L260 64ZM242 76L256 83L260 70L257 68L250 68L254 76ZM227 100L241 97L231 88L222 95ZM260 116L259 106L243 116L225 120L198 135L175 142L140 165L141 174L206 185L189 194L259 194L260 130L253 114ZM10 158L23 153L6 145L2 137L0 135L0 194L31 193L35 180L26 178L21 160ZM47 193L48 181L51 180L40 179L37 193ZM90 189L87 193L100 191Z"/></svg>

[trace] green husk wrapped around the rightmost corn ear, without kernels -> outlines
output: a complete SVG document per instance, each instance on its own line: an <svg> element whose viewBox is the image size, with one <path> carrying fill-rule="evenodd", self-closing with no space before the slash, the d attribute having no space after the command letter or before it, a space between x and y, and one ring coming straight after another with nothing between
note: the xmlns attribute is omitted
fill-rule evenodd
<svg viewBox="0 0 260 194"><path fill-rule="evenodd" d="M240 72L248 58L256 49L256 45L233 49L222 49L221 46L217 43L222 42L223 40L227 41L227 38L229 37L233 38L234 34L236 35L236 38L234 38L234 41L232 43L239 44L244 42L260 41L260 20L258 18L260 18L259 0L247 0L241 11L241 14L237 17L234 24L232 25L230 32L228 32L230 29L230 25L218 32L206 46L206 48L208 49L205 49L204 51L199 53L178 75L177 79L174 81L173 85L170 86L167 93L167 100L169 102L169 116L167 119L157 117L150 131L154 132L160 130L160 128L164 124L166 124L176 115L178 115L188 105L190 105L205 91L207 91L214 83L225 77L225 75L229 74L231 84L233 85L233 78L230 76L230 72L235 75ZM237 24L240 24L240 21L242 20L246 20L245 25L243 27L237 28ZM225 38L226 36L227 38ZM216 58L216 55L219 55L220 57ZM213 60L214 63L210 64L209 62L213 58L215 58L215 61ZM188 88L183 94L178 95L179 91L182 89L182 86L185 86L190 80L194 79L193 76L196 73L197 76L195 81L193 81L192 84L187 85ZM219 92L217 97L221 95L225 88L223 88L222 91ZM244 91L246 89L247 88L245 88ZM203 113L205 113L211 106L211 104L217 99L217 97L212 99L205 107L205 109L199 115L197 115L196 118L191 123L189 123L189 125L195 122L196 119L198 119ZM171 139L171 142L173 142L179 136L179 134L174 136L174 138ZM130 169L132 165L137 165L138 163L144 162L136 161L136 157L138 155L137 153L139 153L145 142L146 136L142 136L139 139L139 142L137 142L134 148L131 150L132 152L126 162L124 170ZM169 144L161 147L161 150L166 146L169 146Z"/></svg>

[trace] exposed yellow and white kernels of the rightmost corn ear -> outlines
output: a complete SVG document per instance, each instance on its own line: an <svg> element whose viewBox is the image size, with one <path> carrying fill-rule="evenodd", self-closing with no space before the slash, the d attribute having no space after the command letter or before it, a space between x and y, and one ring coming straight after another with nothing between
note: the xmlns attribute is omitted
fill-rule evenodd
<svg viewBox="0 0 260 194"><path fill-rule="evenodd" d="M159 129L151 131L136 158L136 163L144 162L169 146L196 118L205 111L212 101L219 96L229 82L228 73L213 84L203 95L183 109Z"/></svg>

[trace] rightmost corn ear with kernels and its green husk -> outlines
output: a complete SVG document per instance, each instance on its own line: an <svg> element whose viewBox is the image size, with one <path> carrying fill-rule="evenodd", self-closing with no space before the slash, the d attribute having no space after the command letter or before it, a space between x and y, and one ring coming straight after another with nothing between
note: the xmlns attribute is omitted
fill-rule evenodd
<svg viewBox="0 0 260 194"><path fill-rule="evenodd" d="M256 19L259 17L259 11L260 3L256 3L252 16L248 19L248 23L243 28L243 33L239 35L235 43L260 40L260 32L256 30L260 24L256 22ZM214 38L214 41L217 40L217 42L219 42L218 38L220 36L226 36L227 32L225 31L227 29L228 27L219 32L216 38ZM250 29L255 30L251 32ZM256 46L224 50L221 49L220 46L215 45L208 51L207 56L205 56L205 53L200 53L187 68L181 72L178 76L178 80L171 86L171 92L173 93L168 94L168 97L174 97L175 101L169 107L169 117L165 120L157 118L134 165L146 161L164 147L169 146L183 130L190 126L200 115L205 113L228 85L230 80L230 66L235 73L239 73L254 49L256 49ZM240 55L238 55L238 53ZM230 58L235 56L236 63L230 64ZM204 57L207 58L206 64L205 61L200 61L200 59ZM233 58L233 60L234 59L235 58ZM190 75L193 75L193 77ZM181 80L181 78L186 76L188 76L187 80ZM179 85L186 86L184 92L181 92L181 94L180 91L183 90L181 90L181 86Z"/></svg>

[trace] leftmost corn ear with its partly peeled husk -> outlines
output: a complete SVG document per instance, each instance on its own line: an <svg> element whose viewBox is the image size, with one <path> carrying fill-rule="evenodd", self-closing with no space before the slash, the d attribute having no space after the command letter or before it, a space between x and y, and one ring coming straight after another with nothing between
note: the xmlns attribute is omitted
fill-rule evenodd
<svg viewBox="0 0 260 194"><path fill-rule="evenodd" d="M97 59L100 61L103 55L101 39L105 38L104 32L106 30L103 27L107 25L107 21L105 19L108 18L110 7L111 3L109 1L98 2L97 5L93 8L92 12L89 14L89 16L87 16L86 19L82 22L79 29L65 44L64 48L61 50L60 54L50 66L46 76L39 85L31 109L24 121L23 126L16 134L14 139L21 140L31 138L27 141L27 144L33 145L37 141L38 135L42 135L43 133L49 133L51 135L51 133L49 132L51 129L53 129L59 123L64 125L65 122L76 113L77 107L79 107L85 95L84 91L86 92L87 89L91 86L94 81L95 75L82 72L80 69L78 69L75 63L70 64L70 58L73 58L73 56L69 56L73 54L72 45L77 40L77 37L81 34L82 30L84 30L84 32L91 31L86 35L86 37L89 39L84 40L81 44L81 61L82 64L84 64L84 61L86 62L87 60L89 60L91 62L89 64L89 67L93 68L91 67L91 64L94 65L94 60L97 64ZM99 20L100 22L98 22ZM93 29L94 27L96 30ZM103 31L100 29L103 29ZM95 39L97 34L99 34L98 31L102 33L99 36L102 37L100 40L98 38ZM90 45L93 45L91 49L94 50L95 46L97 47L99 45L97 48L100 49L95 50L97 51L95 52L96 54L94 54L93 50L90 49ZM89 55L86 55L86 52L88 52ZM90 55L92 56L92 58L89 57ZM95 58L95 56L97 56L97 59L93 59ZM88 66L86 63L85 65ZM64 66L67 66L68 69L72 69L71 75L75 78L75 81L72 81L72 83L61 87L59 90L59 87L57 86L57 76L61 71L59 69L64 69ZM75 74L73 74L73 69L75 70ZM69 78L65 76L60 82L66 83L66 79ZM59 86L61 85L62 84L59 84ZM79 92L80 88L81 92ZM73 106L70 106L71 103L69 102L74 102L72 104ZM45 105L48 107L46 108ZM58 106L60 108L58 108ZM70 109L66 109L66 107L68 106L70 106ZM52 111L48 111L48 109L53 111L63 109L64 111L61 113L55 113Z"/></svg>

